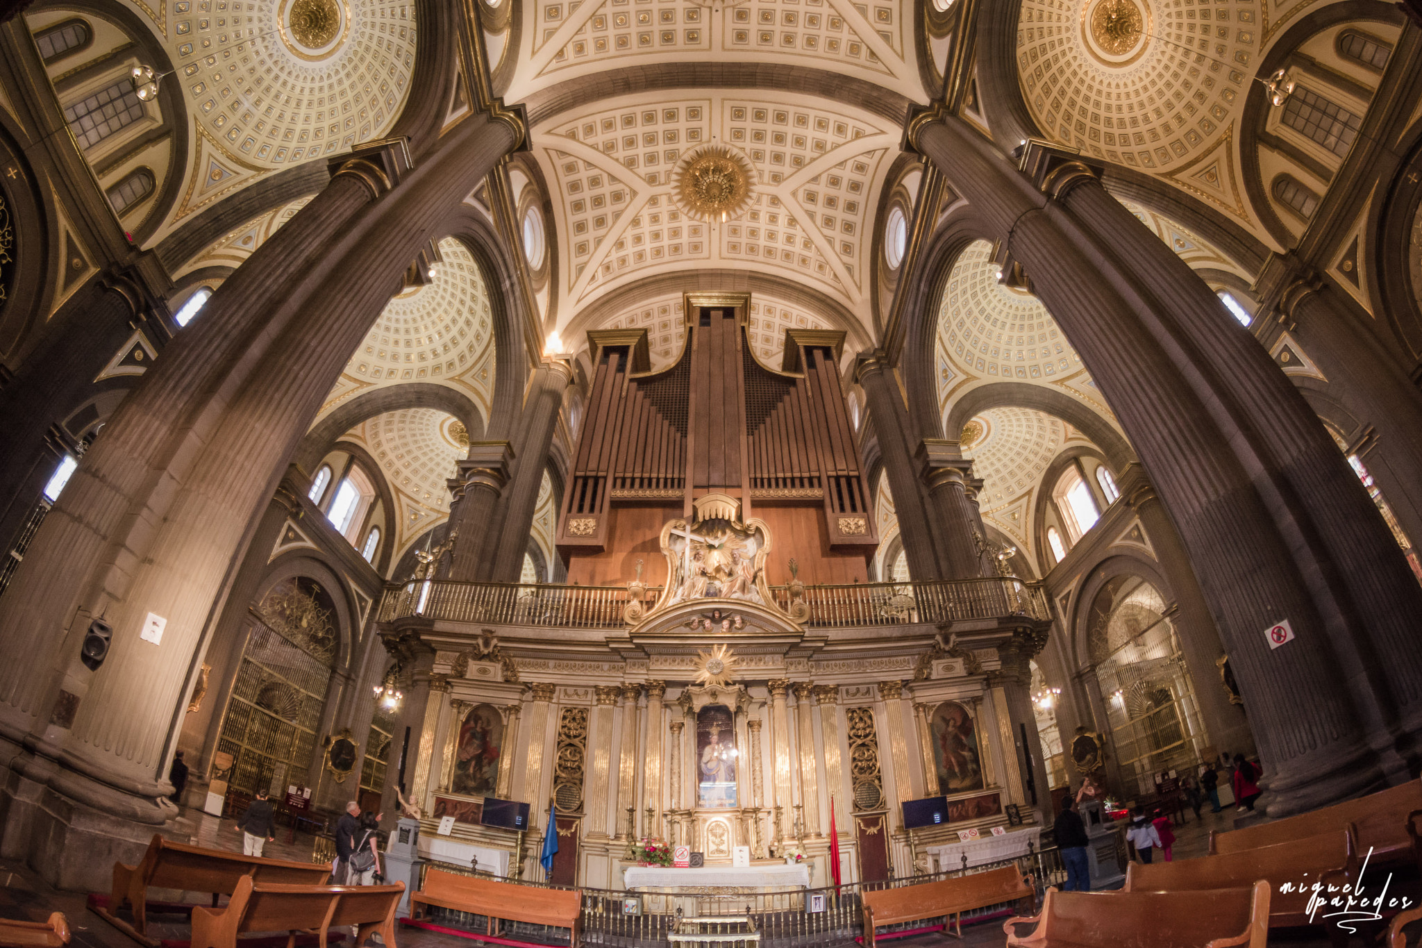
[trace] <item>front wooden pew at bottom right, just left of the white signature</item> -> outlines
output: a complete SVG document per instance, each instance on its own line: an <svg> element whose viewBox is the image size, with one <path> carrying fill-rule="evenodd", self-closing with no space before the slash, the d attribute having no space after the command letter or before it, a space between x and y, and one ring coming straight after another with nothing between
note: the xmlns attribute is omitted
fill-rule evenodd
<svg viewBox="0 0 1422 948"><path fill-rule="evenodd" d="M1037 922L1037 928L1018 937L1014 925L1027 922ZM1266 948L1268 883L1190 893L1059 893L1048 888L1039 915L1010 918L1003 931L1010 948Z"/></svg>

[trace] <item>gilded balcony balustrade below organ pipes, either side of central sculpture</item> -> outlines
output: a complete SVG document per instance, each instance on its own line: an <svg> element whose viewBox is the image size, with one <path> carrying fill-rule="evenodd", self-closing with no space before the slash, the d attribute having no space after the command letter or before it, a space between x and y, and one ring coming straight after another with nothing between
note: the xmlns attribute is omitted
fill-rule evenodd
<svg viewBox="0 0 1422 948"><path fill-rule="evenodd" d="M772 586L781 611L808 618L815 628L872 625L939 625L963 620L1024 617L1049 620L1041 583L1015 577L931 580L924 583L853 583L846 586ZM422 617L485 625L542 628L623 628L630 593L624 586L556 586L550 583L454 583L412 580L391 586L378 621ZM643 614L656 605L661 587L647 587ZM803 603L803 607L792 610Z"/></svg>

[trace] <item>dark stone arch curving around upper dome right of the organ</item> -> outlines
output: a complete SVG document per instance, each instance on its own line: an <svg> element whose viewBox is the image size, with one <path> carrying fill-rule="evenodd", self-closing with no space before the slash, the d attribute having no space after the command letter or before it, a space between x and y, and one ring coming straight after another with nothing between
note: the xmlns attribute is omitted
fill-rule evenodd
<svg viewBox="0 0 1422 948"><path fill-rule="evenodd" d="M1020 3L1021 0L1018 0ZM960 203L954 208L920 263L923 279L910 290L903 308L903 348L899 354L899 374L909 397L909 424L919 438L943 438L943 416L939 412L939 307L947 290L948 276L958 257L975 240L993 240L990 229L973 209ZM950 428L948 431L961 431Z"/></svg>

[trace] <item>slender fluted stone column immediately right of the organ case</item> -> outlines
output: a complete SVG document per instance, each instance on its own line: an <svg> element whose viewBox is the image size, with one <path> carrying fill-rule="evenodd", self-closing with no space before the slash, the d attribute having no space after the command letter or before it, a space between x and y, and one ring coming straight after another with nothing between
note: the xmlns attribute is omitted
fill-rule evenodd
<svg viewBox="0 0 1422 948"><path fill-rule="evenodd" d="M919 490L919 478L914 476L907 435L909 415L893 370L880 354L862 352L855 368L855 381L865 389L869 416L879 435L884 475L889 478L889 490L893 493L894 512L899 517L899 536L903 537L903 549L909 557L909 574L916 580L940 578L934 523Z"/></svg>

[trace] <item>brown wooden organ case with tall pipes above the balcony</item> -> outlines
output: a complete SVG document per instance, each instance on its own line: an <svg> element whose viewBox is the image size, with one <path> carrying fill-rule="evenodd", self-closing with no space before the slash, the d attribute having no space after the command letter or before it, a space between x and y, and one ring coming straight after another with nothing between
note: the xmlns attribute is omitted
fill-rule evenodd
<svg viewBox="0 0 1422 948"><path fill-rule="evenodd" d="M685 294L677 361L651 371L646 330L587 334L593 378L557 524L567 581L665 581L658 532L724 493L775 540L766 580L867 578L879 539L845 406L845 334L786 330L779 368L747 340L749 294ZM754 509L754 515L752 515Z"/></svg>

